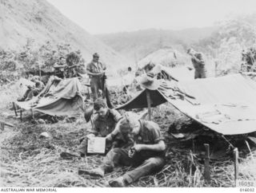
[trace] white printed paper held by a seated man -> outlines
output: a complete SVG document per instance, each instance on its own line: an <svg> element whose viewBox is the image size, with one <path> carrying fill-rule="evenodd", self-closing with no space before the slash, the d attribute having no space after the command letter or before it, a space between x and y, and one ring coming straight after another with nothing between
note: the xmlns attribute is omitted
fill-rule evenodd
<svg viewBox="0 0 256 193"><path fill-rule="evenodd" d="M106 150L105 137L90 137L87 144L87 153L104 154Z"/></svg>

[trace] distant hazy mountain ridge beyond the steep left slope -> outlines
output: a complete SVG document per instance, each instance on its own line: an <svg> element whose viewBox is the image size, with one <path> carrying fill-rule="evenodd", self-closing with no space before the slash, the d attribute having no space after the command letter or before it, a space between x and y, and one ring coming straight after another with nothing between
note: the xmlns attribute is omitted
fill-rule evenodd
<svg viewBox="0 0 256 193"><path fill-rule="evenodd" d="M136 62L146 57L147 54L162 48L173 48L183 51L187 45L210 37L217 29L218 26L186 30L149 29L134 32L98 34L96 37Z"/></svg>

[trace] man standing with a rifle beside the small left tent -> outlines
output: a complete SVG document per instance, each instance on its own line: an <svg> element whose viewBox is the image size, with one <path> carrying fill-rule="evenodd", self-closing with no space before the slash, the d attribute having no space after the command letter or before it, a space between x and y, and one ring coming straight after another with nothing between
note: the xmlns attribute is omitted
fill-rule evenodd
<svg viewBox="0 0 256 193"><path fill-rule="evenodd" d="M103 97L106 96L106 104L109 108L113 108L110 102L110 93L106 89L106 65L102 64L98 59L98 53L94 53L93 60L86 66L87 73L90 76L90 89L94 100L98 98L98 90L101 89Z"/></svg>

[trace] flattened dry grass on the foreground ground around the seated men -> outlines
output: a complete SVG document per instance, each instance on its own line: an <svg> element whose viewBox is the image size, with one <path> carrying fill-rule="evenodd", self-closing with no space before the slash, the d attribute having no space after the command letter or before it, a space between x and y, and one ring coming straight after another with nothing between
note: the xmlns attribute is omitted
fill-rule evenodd
<svg viewBox="0 0 256 193"><path fill-rule="evenodd" d="M142 177L130 187L234 186L234 163L231 157L210 162L211 181L206 183L202 157L193 152L190 141L174 140L167 133L170 124L187 119L185 116L165 105L154 110L153 115L166 137L166 167L157 174ZM102 156L62 160L60 152L75 151L86 129L90 128L82 116L74 123L62 120L57 124L33 125L29 121L7 121L13 121L17 128L6 128L1 132L1 187L107 187L110 179L132 169L118 167L103 179L97 179L78 175L78 169L98 167L102 163ZM48 132L51 137L40 138L41 132ZM256 153L251 150L247 157L239 160L239 179L255 180L255 157Z"/></svg>

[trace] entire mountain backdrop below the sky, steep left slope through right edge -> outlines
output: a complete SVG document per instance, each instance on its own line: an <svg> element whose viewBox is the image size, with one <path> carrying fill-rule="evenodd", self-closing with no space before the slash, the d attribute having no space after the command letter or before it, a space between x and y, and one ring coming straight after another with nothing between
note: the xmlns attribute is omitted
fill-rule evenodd
<svg viewBox="0 0 256 193"><path fill-rule="evenodd" d="M186 49L192 45L229 68L240 63L242 49L255 44L255 16L205 28L91 35L46 0L0 0L0 49L22 49L28 38L38 45L65 43L80 49L86 61L98 52L106 65L119 69L135 65L159 49L177 50L188 57Z"/></svg>

